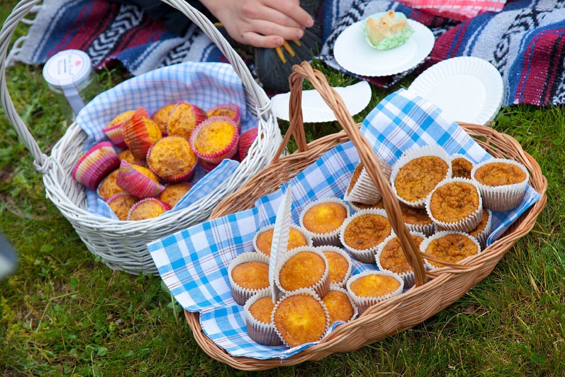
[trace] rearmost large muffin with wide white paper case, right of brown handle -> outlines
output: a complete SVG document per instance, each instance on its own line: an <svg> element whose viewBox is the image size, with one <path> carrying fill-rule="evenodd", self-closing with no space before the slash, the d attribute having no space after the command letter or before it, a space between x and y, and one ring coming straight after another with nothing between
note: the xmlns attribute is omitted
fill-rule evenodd
<svg viewBox="0 0 565 377"><path fill-rule="evenodd" d="M423 208L436 185L451 176L449 156L440 146L408 149L394 164L390 184L398 200Z"/></svg>

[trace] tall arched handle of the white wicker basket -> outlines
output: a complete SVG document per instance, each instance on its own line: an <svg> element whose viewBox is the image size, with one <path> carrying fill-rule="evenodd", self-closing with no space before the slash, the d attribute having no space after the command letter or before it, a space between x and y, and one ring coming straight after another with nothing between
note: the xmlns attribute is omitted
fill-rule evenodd
<svg viewBox="0 0 565 377"><path fill-rule="evenodd" d="M22 0L14 7L12 13L5 20L2 30L0 31L0 102L6 113L6 117L10 120L10 123L14 125L16 132L20 140L22 140L33 155L34 165L40 172L45 172L47 167L48 158L47 155L42 153L37 141L29 132L28 127L25 125L23 120L18 115L14 107L14 102L8 93L8 88L6 85L6 55L8 47L10 46L10 41L12 34L16 27L18 26L21 19L23 19L31 10L34 5L40 3L42 0ZM257 112L257 116L267 120L271 109L271 101L253 79L249 69L247 69L244 61L240 56L233 50L233 48L228 44L228 41L221 35L218 29L208 20L201 12L196 10L194 7L190 6L183 0L161 0L162 2L176 8L181 11L186 17L188 17L194 24L196 24L202 31L210 38L220 51L228 58L234 71L240 77L242 84L245 86L247 93L248 106L254 106ZM249 103L251 101L251 103ZM255 103L253 103L255 102Z"/></svg>

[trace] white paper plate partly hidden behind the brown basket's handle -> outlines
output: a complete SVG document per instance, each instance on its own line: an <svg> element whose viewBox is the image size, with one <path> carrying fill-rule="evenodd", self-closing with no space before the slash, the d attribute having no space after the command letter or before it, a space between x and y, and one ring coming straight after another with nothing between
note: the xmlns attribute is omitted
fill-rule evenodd
<svg viewBox="0 0 565 377"><path fill-rule="evenodd" d="M371 101L371 86L367 81L360 81L349 86L338 86L333 88L341 98L351 116L363 110ZM289 120L288 101L290 93L277 94L271 98L271 103L277 118ZM304 123L309 122L332 122L336 116L329 106L321 98L318 90L304 90L302 92L302 117Z"/></svg>

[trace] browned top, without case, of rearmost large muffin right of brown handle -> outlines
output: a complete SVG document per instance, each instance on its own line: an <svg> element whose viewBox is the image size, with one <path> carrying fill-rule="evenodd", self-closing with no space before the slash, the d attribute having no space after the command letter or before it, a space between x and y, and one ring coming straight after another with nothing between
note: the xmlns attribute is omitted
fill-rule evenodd
<svg viewBox="0 0 565 377"><path fill-rule="evenodd" d="M403 200L418 202L424 200L448 172L449 166L440 157L418 157L400 168L394 179L394 187Z"/></svg>

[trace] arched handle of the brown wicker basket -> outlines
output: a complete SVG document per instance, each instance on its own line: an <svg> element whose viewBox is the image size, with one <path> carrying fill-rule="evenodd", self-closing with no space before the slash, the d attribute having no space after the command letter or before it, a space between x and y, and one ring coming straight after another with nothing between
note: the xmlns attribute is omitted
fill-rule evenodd
<svg viewBox="0 0 565 377"><path fill-rule="evenodd" d="M349 115L349 111L347 111L343 100L329 85L325 75L318 70L314 70L314 68L312 68L312 66L310 66L307 62L302 62L299 66L295 65L293 67L293 73L289 77L289 132L290 130L293 130L294 135L299 135L300 133L303 135L304 133L301 110L302 83L304 79L308 79L314 88L320 92L325 103L328 104L336 115L338 123L340 123L341 127L344 128L347 136L349 136L353 145L357 148L359 158L361 159L361 162L363 162L363 166L366 168L371 180L375 183L376 187L379 188L383 195L383 203L390 224L400 240L402 251L406 256L406 260L410 263L410 266L412 266L412 269L414 270L415 285L419 286L424 284L427 279L420 250L416 246L414 239L412 239L410 231L408 231L408 228L406 228L406 225L404 224L400 205L390 188L388 180L383 175L380 168L377 168L379 167L379 162L377 161L373 148L368 143L367 139L361 135L361 132L355 125L353 118Z"/></svg>

